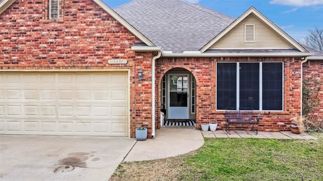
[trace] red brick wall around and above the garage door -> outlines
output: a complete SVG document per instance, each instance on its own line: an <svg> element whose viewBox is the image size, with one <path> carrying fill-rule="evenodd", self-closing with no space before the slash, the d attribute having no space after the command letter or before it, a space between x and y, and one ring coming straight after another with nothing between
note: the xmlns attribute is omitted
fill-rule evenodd
<svg viewBox="0 0 323 181"><path fill-rule="evenodd" d="M61 1L59 20L48 20L47 2L18 0L0 15L0 69L130 70L130 136L151 129L152 54L132 51L140 40L91 0ZM116 58L128 63L107 63Z"/></svg>

